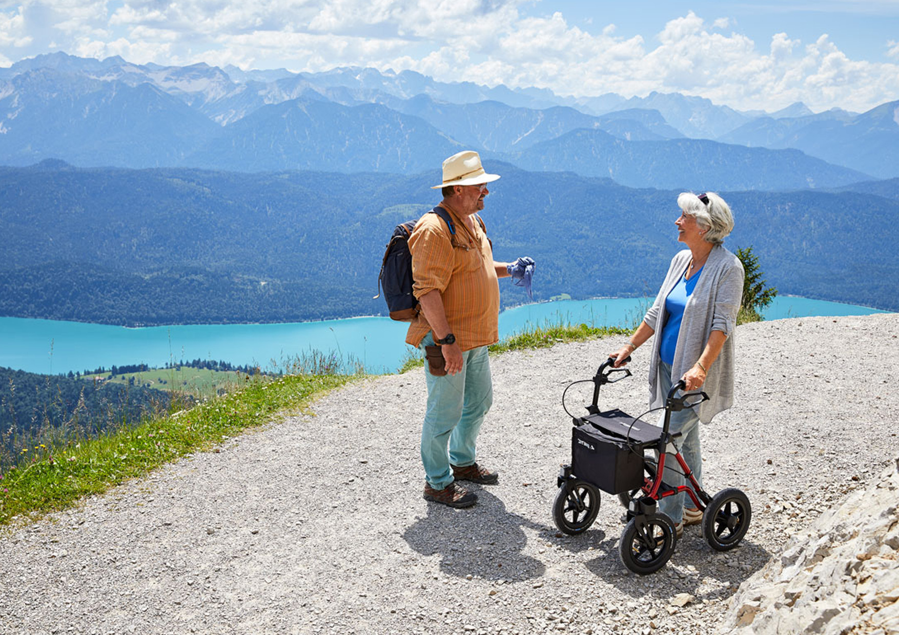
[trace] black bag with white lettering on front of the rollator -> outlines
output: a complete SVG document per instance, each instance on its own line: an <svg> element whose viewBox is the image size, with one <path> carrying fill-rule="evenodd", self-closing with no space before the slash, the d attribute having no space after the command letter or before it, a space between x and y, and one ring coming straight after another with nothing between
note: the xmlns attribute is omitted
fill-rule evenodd
<svg viewBox="0 0 899 635"><path fill-rule="evenodd" d="M610 494L637 489L643 485L643 455L616 437L586 423L572 428L572 472Z"/></svg>

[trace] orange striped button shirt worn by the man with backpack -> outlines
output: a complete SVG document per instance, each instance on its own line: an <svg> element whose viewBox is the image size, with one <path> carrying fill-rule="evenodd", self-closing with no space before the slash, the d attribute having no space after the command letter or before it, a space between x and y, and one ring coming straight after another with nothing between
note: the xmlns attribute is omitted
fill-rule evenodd
<svg viewBox="0 0 899 635"><path fill-rule="evenodd" d="M449 330L462 350L494 344L499 340L500 285L494 268L494 251L487 234L473 218L475 231L449 207L456 235L440 216L425 214L409 236L412 252L413 294L416 298L437 289L441 292ZM424 313L409 325L405 341L417 347L431 326Z"/></svg>

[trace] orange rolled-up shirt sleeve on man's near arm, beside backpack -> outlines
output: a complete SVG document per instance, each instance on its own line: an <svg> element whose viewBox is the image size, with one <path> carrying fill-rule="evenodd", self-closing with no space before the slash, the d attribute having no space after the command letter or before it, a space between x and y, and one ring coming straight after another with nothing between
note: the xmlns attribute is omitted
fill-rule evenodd
<svg viewBox="0 0 899 635"><path fill-rule="evenodd" d="M440 216L425 215L415 225L409 236L409 251L412 253L412 293L415 298L420 299L433 289L443 293L449 285L455 260L449 230Z"/></svg>

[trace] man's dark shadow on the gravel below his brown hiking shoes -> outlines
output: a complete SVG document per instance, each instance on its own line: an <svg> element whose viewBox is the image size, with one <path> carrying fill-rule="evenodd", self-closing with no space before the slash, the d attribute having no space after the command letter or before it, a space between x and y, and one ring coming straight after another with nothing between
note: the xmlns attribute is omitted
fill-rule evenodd
<svg viewBox="0 0 899 635"><path fill-rule="evenodd" d="M423 556L440 554L441 571L447 575L517 582L539 578L546 570L521 552L528 542L524 527L551 531L506 511L502 500L481 489L477 505L468 509L428 503L428 515L406 529L403 538Z"/></svg>

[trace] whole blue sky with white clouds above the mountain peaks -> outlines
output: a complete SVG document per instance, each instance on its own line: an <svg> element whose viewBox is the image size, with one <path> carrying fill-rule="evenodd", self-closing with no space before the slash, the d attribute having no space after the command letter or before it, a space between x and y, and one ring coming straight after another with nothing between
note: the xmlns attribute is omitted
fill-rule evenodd
<svg viewBox="0 0 899 635"><path fill-rule="evenodd" d="M652 91L740 110L899 100L899 0L0 0L0 64L411 69L578 96Z"/></svg>

